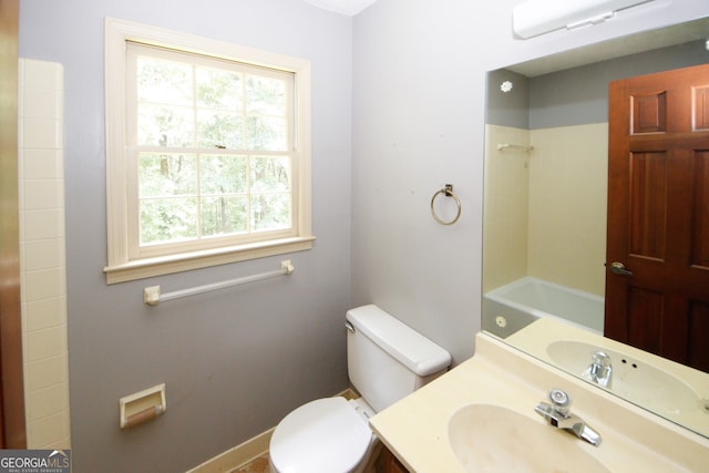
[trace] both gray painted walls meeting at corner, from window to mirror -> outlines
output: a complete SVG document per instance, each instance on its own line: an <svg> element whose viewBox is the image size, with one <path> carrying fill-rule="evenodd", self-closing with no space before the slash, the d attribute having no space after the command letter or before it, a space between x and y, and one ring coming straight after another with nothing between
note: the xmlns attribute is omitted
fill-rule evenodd
<svg viewBox="0 0 709 473"><path fill-rule="evenodd" d="M343 389L349 306L379 304L449 349L456 363L473 353L485 72L709 14L705 0L675 0L671 9L645 8L520 41L510 31L518 1L379 0L353 20L297 0L22 1L21 55L66 70L75 471L184 470L267 430L298 403ZM141 301L144 286L259 273L280 258L105 286L106 16L312 61L318 240L292 255L290 279L152 309ZM445 183L463 206L451 227L429 209ZM161 381L167 413L121 432L117 399Z"/></svg>

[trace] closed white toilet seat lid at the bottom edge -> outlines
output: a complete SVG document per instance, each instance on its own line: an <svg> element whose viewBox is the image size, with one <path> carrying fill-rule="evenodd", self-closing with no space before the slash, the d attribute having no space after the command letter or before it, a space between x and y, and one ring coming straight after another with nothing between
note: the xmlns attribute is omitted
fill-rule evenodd
<svg viewBox="0 0 709 473"><path fill-rule="evenodd" d="M346 473L361 462L372 438L345 398L318 399L280 421L270 439L270 461L284 473Z"/></svg>

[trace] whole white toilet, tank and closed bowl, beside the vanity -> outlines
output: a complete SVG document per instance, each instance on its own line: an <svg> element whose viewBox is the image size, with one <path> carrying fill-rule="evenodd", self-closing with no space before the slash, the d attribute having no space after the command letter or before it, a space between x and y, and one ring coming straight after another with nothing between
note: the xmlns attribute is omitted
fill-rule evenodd
<svg viewBox="0 0 709 473"><path fill-rule="evenodd" d="M347 312L347 368L361 398L308 402L270 439L273 473L360 473L379 440L368 419L443 374L451 356L374 305Z"/></svg>

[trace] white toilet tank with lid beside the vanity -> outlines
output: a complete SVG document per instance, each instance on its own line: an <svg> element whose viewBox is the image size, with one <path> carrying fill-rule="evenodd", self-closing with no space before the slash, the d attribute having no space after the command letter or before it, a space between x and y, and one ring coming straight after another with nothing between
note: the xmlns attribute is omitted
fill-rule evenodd
<svg viewBox="0 0 709 473"><path fill-rule="evenodd" d="M347 320L350 382L377 412L443 374L451 364L448 351L377 306L350 309Z"/></svg>

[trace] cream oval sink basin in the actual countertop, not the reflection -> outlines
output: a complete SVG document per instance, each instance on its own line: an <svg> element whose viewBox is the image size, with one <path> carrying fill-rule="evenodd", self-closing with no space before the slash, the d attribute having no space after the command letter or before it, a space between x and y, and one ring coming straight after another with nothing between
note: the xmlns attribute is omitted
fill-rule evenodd
<svg viewBox="0 0 709 473"><path fill-rule="evenodd" d="M534 405L530 405L534 410ZM466 472L609 472L589 444L506 408L469 404L449 421L453 452Z"/></svg>

